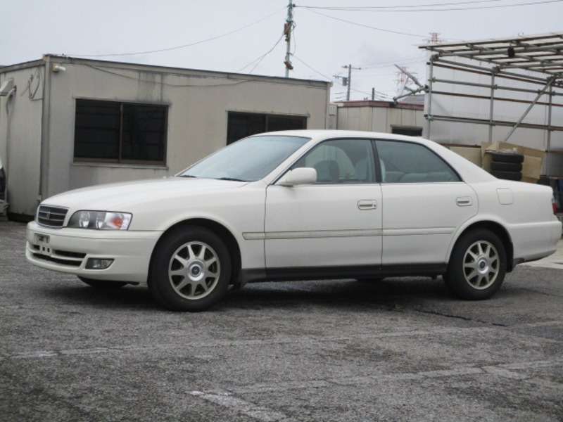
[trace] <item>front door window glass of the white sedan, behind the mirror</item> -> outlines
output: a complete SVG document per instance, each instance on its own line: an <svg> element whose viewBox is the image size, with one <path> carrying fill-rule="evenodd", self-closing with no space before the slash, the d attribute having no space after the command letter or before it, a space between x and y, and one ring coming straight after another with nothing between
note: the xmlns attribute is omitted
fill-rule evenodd
<svg viewBox="0 0 563 422"><path fill-rule="evenodd" d="M332 139L312 148L291 168L314 168L317 184L374 183L373 157L369 139Z"/></svg>

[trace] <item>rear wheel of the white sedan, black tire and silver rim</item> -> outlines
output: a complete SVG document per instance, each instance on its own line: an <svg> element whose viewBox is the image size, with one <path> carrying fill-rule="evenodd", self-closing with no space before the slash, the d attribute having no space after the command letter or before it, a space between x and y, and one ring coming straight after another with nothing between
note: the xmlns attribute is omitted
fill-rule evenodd
<svg viewBox="0 0 563 422"><path fill-rule="evenodd" d="M506 269L507 255L500 238L492 231L477 229L457 241L444 281L458 298L483 300L500 288Z"/></svg>

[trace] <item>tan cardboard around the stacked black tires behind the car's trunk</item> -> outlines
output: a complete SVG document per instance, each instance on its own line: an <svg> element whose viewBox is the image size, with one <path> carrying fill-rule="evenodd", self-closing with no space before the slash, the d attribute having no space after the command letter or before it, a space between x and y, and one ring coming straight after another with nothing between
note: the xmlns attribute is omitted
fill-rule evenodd
<svg viewBox="0 0 563 422"><path fill-rule="evenodd" d="M491 172L491 161L493 154L499 151L512 151L517 154L524 155L524 162L522 163L522 181L529 183L536 183L540 179L541 167L545 158L545 152L528 148L526 146L514 145L514 143L495 142L481 143L482 163L481 167L484 170Z"/></svg>

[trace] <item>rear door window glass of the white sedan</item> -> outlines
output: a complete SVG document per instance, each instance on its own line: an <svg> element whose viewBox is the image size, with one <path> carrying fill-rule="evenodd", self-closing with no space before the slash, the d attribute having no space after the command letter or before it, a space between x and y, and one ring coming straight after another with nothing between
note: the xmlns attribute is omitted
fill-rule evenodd
<svg viewBox="0 0 563 422"><path fill-rule="evenodd" d="M377 141L384 183L460 181L452 168L436 153L418 143Z"/></svg>

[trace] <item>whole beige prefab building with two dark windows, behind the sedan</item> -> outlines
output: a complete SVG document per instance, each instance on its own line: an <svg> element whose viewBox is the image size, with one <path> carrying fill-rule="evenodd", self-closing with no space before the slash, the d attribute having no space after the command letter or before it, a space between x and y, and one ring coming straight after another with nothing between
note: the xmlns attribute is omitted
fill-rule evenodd
<svg viewBox="0 0 563 422"><path fill-rule="evenodd" d="M8 212L166 177L249 134L327 127L329 82L44 56L0 68Z"/></svg>

